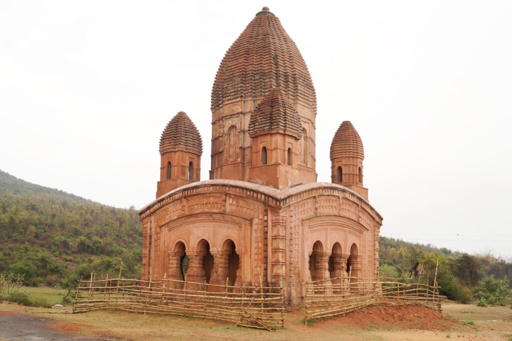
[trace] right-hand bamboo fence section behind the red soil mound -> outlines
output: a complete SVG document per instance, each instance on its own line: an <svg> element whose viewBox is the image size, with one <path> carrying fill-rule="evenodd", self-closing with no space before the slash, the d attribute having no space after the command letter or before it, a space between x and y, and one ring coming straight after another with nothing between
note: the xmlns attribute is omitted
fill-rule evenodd
<svg viewBox="0 0 512 341"><path fill-rule="evenodd" d="M437 277L437 276L436 276ZM439 286L414 279L340 277L307 283L306 318L336 316L370 305L422 305L441 311Z"/></svg>

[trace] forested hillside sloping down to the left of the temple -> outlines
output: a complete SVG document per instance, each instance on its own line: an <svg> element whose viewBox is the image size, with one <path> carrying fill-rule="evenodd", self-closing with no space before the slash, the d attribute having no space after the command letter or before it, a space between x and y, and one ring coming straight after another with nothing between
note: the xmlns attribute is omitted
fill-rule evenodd
<svg viewBox="0 0 512 341"><path fill-rule="evenodd" d="M0 272L55 285L91 271L141 271L137 211L105 206L0 171Z"/></svg>

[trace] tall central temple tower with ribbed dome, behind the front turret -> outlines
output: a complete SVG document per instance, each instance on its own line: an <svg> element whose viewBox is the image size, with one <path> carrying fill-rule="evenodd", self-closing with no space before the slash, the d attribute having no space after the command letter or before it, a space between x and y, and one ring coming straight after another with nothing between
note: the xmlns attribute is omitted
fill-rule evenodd
<svg viewBox="0 0 512 341"><path fill-rule="evenodd" d="M316 95L306 63L278 17L264 7L222 59L211 91L212 136L210 179L232 179L276 186L261 180L253 164L251 114L273 89L280 90L300 119L294 164L295 183L316 182ZM265 137L259 134L258 142ZM264 134L263 134L264 135ZM274 135L269 132L268 143ZM275 138L274 138L275 139ZM273 142L279 145L278 142ZM290 148L291 150L291 148ZM266 151L266 150L265 150ZM269 162L286 158L276 147ZM262 175L268 178L269 175ZM290 184L291 185L291 184ZM283 187L279 185L279 187Z"/></svg>

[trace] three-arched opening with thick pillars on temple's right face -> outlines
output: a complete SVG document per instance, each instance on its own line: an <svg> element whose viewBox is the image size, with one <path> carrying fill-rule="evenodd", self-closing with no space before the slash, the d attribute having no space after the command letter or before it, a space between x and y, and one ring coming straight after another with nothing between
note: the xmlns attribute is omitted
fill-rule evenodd
<svg viewBox="0 0 512 341"><path fill-rule="evenodd" d="M350 246L350 253L343 253L342 246L336 242L331 252L324 251L322 242L316 241L309 256L309 272L312 281L359 277L362 274L362 263L358 254L357 245Z"/></svg>

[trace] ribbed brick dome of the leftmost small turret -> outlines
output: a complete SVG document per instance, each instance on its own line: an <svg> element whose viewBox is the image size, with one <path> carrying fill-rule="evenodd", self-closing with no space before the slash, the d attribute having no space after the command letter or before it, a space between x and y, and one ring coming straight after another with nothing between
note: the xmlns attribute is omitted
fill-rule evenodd
<svg viewBox="0 0 512 341"><path fill-rule="evenodd" d="M196 125L180 111L167 123L160 137L160 153L174 151L179 146L203 153L203 140Z"/></svg>

